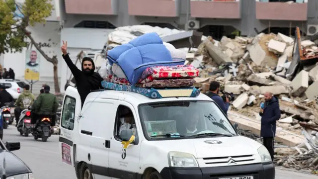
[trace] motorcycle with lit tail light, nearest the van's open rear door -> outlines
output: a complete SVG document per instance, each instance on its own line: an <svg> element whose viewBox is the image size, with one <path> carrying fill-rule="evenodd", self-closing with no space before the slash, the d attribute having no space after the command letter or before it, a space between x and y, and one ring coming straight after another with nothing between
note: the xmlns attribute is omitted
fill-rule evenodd
<svg viewBox="0 0 318 179"><path fill-rule="evenodd" d="M46 142L52 135L51 131L51 115L41 115L35 124L35 128L32 131L32 135L35 140L41 138L42 142Z"/></svg>

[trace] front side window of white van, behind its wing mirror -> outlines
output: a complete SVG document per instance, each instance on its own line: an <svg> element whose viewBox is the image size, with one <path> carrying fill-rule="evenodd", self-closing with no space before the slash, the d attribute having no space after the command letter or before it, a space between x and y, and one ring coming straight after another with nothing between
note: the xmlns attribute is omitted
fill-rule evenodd
<svg viewBox="0 0 318 179"><path fill-rule="evenodd" d="M123 129L132 129L136 133L136 123L133 112L129 107L119 105L115 120L114 136L116 140L122 140L120 132Z"/></svg>

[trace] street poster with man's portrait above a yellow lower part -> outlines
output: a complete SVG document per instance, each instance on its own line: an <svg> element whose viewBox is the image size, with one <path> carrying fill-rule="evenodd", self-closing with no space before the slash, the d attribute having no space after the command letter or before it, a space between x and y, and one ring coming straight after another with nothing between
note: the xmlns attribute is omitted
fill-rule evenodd
<svg viewBox="0 0 318 179"><path fill-rule="evenodd" d="M25 51L25 80L39 80L40 79L40 57L41 54L37 50Z"/></svg>

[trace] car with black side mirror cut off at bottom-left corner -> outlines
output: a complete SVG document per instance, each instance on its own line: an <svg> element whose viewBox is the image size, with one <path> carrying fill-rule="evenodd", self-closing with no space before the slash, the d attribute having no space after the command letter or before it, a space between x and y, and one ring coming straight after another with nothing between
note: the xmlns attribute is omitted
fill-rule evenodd
<svg viewBox="0 0 318 179"><path fill-rule="evenodd" d="M34 179L30 168L22 162L11 151L20 149L20 142L6 142L5 144L0 140L0 173L5 175L7 179ZM3 171L4 170L4 171ZM2 178L2 176L1 176Z"/></svg>

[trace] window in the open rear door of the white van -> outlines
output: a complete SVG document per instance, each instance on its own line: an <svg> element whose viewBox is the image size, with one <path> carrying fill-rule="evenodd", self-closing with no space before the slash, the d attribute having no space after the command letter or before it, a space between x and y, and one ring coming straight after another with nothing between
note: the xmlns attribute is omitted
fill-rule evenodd
<svg viewBox="0 0 318 179"><path fill-rule="evenodd" d="M76 99L74 97L68 95L65 96L61 120L61 126L63 128L73 130L75 119L75 104Z"/></svg>

